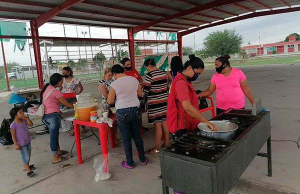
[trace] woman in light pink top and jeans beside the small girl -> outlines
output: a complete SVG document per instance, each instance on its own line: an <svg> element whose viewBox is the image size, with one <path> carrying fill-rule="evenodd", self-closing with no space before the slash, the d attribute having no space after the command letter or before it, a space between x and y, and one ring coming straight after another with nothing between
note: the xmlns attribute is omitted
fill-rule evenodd
<svg viewBox="0 0 300 194"><path fill-rule="evenodd" d="M57 89L61 87L62 82L63 76L59 73L53 73L50 76L49 83L46 83L40 91L40 101L44 104L44 116L42 121L49 128L53 164L68 159L67 157L61 156L67 151L60 150L58 143L60 127L59 103L62 103L68 108L73 108L73 104L69 104L63 97L61 91Z"/></svg>

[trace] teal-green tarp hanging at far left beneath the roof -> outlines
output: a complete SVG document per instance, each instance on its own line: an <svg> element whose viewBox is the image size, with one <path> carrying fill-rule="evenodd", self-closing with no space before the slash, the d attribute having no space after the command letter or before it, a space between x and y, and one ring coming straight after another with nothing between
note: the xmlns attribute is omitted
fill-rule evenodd
<svg viewBox="0 0 300 194"><path fill-rule="evenodd" d="M24 50L27 41L26 23L13 21L0 21L0 35L24 36L24 38L14 39L14 49ZM1 38L0 41L10 41L8 38Z"/></svg>

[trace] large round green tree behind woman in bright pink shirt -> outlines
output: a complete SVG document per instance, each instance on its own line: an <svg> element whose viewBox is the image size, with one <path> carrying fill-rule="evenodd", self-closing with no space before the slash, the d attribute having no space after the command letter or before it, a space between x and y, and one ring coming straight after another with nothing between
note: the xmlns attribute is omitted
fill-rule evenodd
<svg viewBox="0 0 300 194"><path fill-rule="evenodd" d="M220 56L239 53L242 44L242 36L234 29L213 31L204 38L204 49L208 55Z"/></svg>

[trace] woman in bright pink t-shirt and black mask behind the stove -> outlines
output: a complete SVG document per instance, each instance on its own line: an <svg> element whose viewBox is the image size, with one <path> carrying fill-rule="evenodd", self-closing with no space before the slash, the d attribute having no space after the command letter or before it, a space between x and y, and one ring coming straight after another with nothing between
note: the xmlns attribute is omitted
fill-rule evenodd
<svg viewBox="0 0 300 194"><path fill-rule="evenodd" d="M216 90L216 114L228 108L244 108L244 95L251 104L255 103L246 76L240 69L230 66L229 58L230 56L226 54L215 59L216 73L211 77L209 87L199 93L200 97L208 96Z"/></svg>

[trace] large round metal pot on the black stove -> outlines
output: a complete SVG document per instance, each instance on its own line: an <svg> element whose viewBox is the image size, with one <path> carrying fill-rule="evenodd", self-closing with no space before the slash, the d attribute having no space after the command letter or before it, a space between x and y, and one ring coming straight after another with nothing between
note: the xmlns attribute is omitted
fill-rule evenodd
<svg viewBox="0 0 300 194"><path fill-rule="evenodd" d="M201 135L220 139L232 139L238 128L235 123L229 122L228 120L212 120L209 122L215 124L217 131L211 131L205 123L201 122L197 125Z"/></svg>

